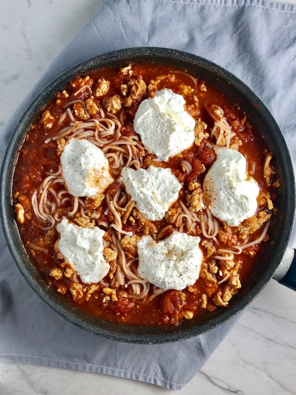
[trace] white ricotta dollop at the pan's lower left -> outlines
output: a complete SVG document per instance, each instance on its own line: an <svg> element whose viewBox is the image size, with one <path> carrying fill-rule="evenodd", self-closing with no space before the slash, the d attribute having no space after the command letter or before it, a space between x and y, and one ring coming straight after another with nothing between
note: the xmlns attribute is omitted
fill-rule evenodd
<svg viewBox="0 0 296 395"><path fill-rule="evenodd" d="M82 228L64 218L57 226L57 231L60 234L58 249L82 282L99 282L108 274L110 265L103 255L105 232L102 229Z"/></svg>

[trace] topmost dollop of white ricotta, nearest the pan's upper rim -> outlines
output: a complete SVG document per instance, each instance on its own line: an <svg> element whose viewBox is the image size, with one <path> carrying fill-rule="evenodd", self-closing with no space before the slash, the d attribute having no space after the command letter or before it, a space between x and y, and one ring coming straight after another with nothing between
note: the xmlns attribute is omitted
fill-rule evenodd
<svg viewBox="0 0 296 395"><path fill-rule="evenodd" d="M168 160L194 143L195 120L184 110L183 96L171 89L143 100L134 118L134 129L145 148L159 160Z"/></svg>

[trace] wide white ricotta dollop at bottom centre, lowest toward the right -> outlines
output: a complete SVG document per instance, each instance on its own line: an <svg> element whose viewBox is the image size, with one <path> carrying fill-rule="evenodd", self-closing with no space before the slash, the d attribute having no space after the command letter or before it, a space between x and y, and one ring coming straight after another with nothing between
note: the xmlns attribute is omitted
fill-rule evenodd
<svg viewBox="0 0 296 395"><path fill-rule="evenodd" d="M150 236L138 241L140 276L163 289L182 290L199 277L203 254L200 237L174 232L156 243Z"/></svg>

